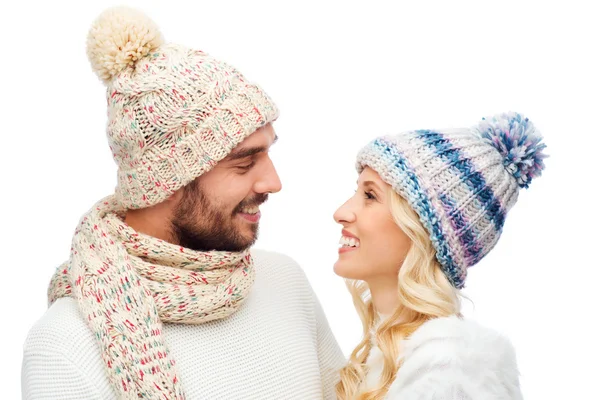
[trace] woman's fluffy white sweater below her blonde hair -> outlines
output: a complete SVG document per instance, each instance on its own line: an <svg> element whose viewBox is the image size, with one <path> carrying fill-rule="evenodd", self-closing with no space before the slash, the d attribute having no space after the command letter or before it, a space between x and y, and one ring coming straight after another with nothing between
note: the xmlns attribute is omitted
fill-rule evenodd
<svg viewBox="0 0 600 400"><path fill-rule="evenodd" d="M402 343L404 361L388 400L522 400L511 343L473 321L457 317L428 321ZM365 384L373 388L383 355L371 349Z"/></svg>

